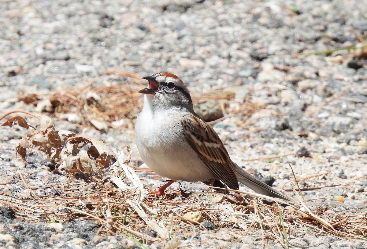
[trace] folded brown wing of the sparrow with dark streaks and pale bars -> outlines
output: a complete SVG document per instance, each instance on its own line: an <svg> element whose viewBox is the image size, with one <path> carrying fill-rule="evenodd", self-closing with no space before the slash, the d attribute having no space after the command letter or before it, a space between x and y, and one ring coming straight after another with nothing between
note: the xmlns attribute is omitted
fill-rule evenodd
<svg viewBox="0 0 367 249"><path fill-rule="evenodd" d="M195 116L182 120L183 135L208 169L231 189L238 189L232 161L215 130Z"/></svg>

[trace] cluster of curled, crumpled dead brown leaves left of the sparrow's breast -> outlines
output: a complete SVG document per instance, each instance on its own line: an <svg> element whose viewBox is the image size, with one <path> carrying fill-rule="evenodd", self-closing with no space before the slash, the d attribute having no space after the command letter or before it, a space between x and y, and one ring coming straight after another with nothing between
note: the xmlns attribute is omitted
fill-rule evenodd
<svg viewBox="0 0 367 249"><path fill-rule="evenodd" d="M68 130L55 127L47 116L39 117L37 129L21 138L17 153L26 161L27 151L36 148L44 152L55 168L69 172L85 172L100 179L103 168L116 161L115 152L102 141L93 138L77 136ZM8 119L1 126L18 125L28 129L33 127L21 116Z"/></svg>

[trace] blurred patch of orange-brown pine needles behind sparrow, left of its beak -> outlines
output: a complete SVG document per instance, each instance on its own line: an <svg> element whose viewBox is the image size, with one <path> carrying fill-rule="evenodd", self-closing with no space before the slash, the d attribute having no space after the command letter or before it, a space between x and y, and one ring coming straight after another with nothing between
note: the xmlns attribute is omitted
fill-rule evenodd
<svg viewBox="0 0 367 249"><path fill-rule="evenodd" d="M92 87L99 78L80 88L61 89L44 94L23 94L18 97L26 104L36 105L40 111L53 113L56 117L70 122L95 126L132 129L134 119L141 106L138 91L141 90L141 76L126 71L102 71L100 74L120 74L123 83ZM29 102L29 99L32 101Z"/></svg>

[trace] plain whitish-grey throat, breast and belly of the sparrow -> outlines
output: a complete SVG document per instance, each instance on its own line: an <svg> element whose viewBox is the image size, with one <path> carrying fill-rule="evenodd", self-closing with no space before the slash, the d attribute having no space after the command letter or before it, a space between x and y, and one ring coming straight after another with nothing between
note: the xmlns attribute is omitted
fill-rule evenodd
<svg viewBox="0 0 367 249"><path fill-rule="evenodd" d="M182 113L149 105L147 96L135 124L135 141L146 165L173 181L208 181L214 175L182 135Z"/></svg>

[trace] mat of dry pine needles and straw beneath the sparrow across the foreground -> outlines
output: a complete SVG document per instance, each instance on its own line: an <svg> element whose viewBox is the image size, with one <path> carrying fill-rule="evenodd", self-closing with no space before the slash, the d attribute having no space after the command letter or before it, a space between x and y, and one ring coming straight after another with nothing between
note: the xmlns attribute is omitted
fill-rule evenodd
<svg viewBox="0 0 367 249"><path fill-rule="evenodd" d="M313 231L348 239L362 238L367 234L367 224L363 222L363 219L367 218L366 214L339 213L335 216L328 212L319 212L316 215L310 210L301 210L297 205L288 204L288 207L281 208L279 205L270 206L261 200L245 201L242 205L233 206L226 197L219 202L203 203L195 198L197 194L184 197L174 192L171 192L173 199L149 196L135 172L126 165L129 157L129 154L120 153L116 163L111 166L110 178L84 183L87 188L84 184L60 184L41 189L28 187L30 198L17 198L1 193L0 202L12 207L18 217L32 222L42 218L59 222L77 218L90 219L101 226L99 233L102 235L126 232L143 241L143 244L161 241L175 245L182 242L183 232L195 233L197 230L203 230L199 220L185 216L191 212L199 212L201 219L214 222L217 229L226 230L236 236L260 234L263 238L276 239L282 244L285 242L279 209L287 235L291 233L293 236L302 237ZM27 179L24 179L24 184L27 185ZM113 187L112 184L119 187ZM68 188L79 190L63 194L64 189ZM54 196L36 194L47 189L55 189L57 192L52 192L55 193ZM251 195L287 203L253 193ZM301 201L300 199L301 196L298 201ZM333 219L333 222L329 221L330 219ZM146 235L145 230L155 231L157 238Z"/></svg>

